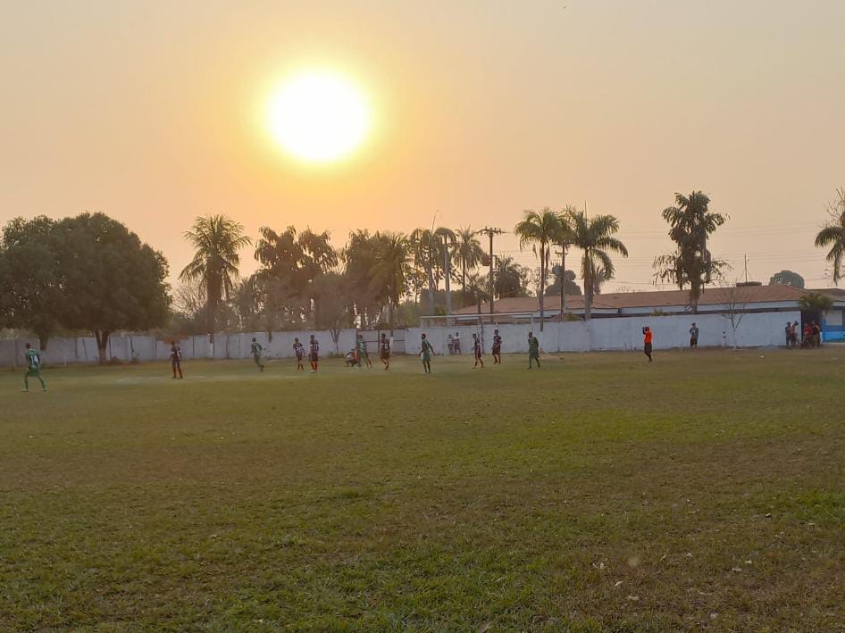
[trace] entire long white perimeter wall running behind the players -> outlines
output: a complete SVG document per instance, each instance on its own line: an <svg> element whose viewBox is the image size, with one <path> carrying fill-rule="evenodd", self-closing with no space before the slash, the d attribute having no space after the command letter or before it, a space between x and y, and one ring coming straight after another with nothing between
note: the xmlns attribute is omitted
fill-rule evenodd
<svg viewBox="0 0 845 633"><path fill-rule="evenodd" d="M648 325L654 332L655 349L689 346L690 325L695 321L699 325L699 346L733 346L731 322L721 314L696 314L661 317L615 317L611 319L593 319L592 321L567 321L565 323L547 322L543 332L539 324L523 325L485 325L480 328L461 326L451 328L411 328L405 332L406 354L420 353L420 335L425 331L431 346L437 354L448 354L448 334L455 336L460 332L461 351L473 353L473 332L481 335L485 354L489 354L493 340L493 329L499 330L503 339L502 352L528 351L528 332L533 331L540 339L540 348L545 352L587 352L590 350L628 350L642 347L642 327ZM786 321L801 321L801 314L795 312L760 312L746 313L742 316L737 329L736 343L741 347L769 347L784 345L783 326ZM250 357L249 347L255 337L264 347L265 355L271 358L290 358L293 353L293 340L298 337L307 352L308 337L312 332L274 332L272 341L266 332L244 334L217 334L214 339L213 357L217 359L246 359ZM355 346L356 330L340 331L338 345L331 339L329 331L314 332L320 341L323 355L345 354ZM11 367L23 364L24 344L27 340L0 340L0 366ZM29 343L38 347L37 339ZM212 346L205 335L180 339L182 357L189 361L195 358L211 358ZM369 344L371 354L378 354L376 345ZM98 355L93 337L51 338L44 351L44 361L51 364L71 364L75 362L96 362ZM167 361L170 357L170 343L156 340L147 335L118 335L109 341L108 357L116 356L123 362L130 362L133 357L141 362ZM16 362L14 362L16 361Z"/></svg>

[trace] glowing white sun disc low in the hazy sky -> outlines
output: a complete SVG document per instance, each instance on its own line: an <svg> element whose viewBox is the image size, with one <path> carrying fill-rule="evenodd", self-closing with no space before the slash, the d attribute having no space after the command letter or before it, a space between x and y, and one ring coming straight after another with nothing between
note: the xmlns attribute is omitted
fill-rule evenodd
<svg viewBox="0 0 845 633"><path fill-rule="evenodd" d="M370 105L342 75L301 72L270 98L273 139L305 162L334 162L352 154L370 132Z"/></svg>

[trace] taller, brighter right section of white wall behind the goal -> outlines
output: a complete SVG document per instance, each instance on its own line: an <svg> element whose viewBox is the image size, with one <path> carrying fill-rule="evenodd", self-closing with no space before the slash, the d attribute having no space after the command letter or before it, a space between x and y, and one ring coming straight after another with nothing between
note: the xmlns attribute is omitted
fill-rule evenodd
<svg viewBox="0 0 845 633"><path fill-rule="evenodd" d="M538 323L520 325L461 326L452 328L412 328L407 330L407 354L420 353L423 331L437 354L448 354L448 335L461 335L461 350L472 354L473 332L481 334L485 354L489 354L493 330L502 337L502 352L528 352L528 333L540 339L545 352L587 352L599 350L628 350L642 348L642 328L648 325L654 332L655 349L670 349L690 345L690 326L699 327L699 346L733 346L731 321L722 314L685 314L683 316L617 317L591 321L545 323L540 332ZM736 331L736 345L740 347L770 347L785 344L783 327L786 321L801 321L801 313L748 312ZM724 332L724 339L723 339Z"/></svg>

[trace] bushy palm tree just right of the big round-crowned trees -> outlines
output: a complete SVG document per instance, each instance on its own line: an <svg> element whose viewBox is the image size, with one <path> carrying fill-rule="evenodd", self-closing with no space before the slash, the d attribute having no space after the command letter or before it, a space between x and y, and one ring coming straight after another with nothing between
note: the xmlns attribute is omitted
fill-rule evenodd
<svg viewBox="0 0 845 633"><path fill-rule="evenodd" d="M228 297L238 278L238 250L251 240L243 234L240 222L225 215L198 217L185 239L194 247L194 259L179 274L179 279L201 279L205 284L205 312L208 334L214 342L217 306Z"/></svg>

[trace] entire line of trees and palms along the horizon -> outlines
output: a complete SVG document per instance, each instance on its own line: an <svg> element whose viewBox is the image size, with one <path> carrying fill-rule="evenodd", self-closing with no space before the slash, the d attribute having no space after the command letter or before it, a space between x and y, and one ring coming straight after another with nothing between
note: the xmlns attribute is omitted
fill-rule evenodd
<svg viewBox="0 0 845 633"><path fill-rule="evenodd" d="M834 283L845 261L845 189L837 195L816 237L816 246L829 249ZM654 280L688 290L693 312L704 288L730 268L707 248L729 219L709 206L707 195L693 191L676 194L661 212L673 250L655 257ZM592 297L614 279L614 257L628 256L613 215L546 207L524 211L512 230L520 249L538 257L536 268L495 247L491 252L488 238L502 231L490 227L359 229L337 248L328 231L262 227L254 239L224 215L201 216L184 233L194 257L171 287L163 254L104 213L15 218L0 238L0 326L31 332L43 348L59 333L91 332L104 361L108 337L118 331L213 337L214 331L389 329L448 308L481 311L490 296L536 296L543 315L545 297L583 293L590 319ZM258 268L241 276L246 247ZM566 254L581 286L565 266ZM770 279L777 283L802 287L803 279L781 271Z"/></svg>

